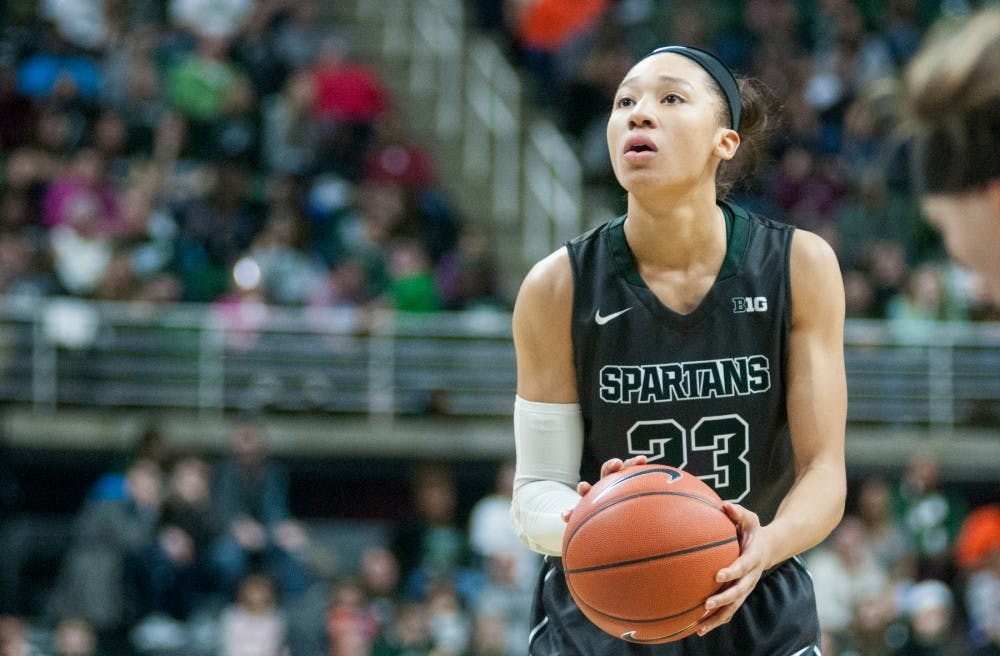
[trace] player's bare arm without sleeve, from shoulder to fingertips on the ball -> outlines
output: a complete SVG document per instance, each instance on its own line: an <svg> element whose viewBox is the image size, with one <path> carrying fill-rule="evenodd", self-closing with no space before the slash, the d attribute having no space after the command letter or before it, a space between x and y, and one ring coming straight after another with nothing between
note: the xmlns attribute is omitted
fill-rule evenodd
<svg viewBox="0 0 1000 656"><path fill-rule="evenodd" d="M746 508L726 504L741 555L720 570L718 580L732 585L706 603L716 612L701 633L728 622L764 570L821 542L844 512L844 288L833 250L802 230L792 240L791 285L786 401L795 481L767 526Z"/></svg>

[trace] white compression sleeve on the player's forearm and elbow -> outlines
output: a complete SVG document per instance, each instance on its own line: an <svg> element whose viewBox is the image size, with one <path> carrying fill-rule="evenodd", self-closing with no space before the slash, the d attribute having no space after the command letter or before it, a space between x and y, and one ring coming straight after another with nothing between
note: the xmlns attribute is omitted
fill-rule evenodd
<svg viewBox="0 0 1000 656"><path fill-rule="evenodd" d="M562 553L566 522L562 513L580 500L583 417L578 403L514 400L517 464L511 517L518 537L530 549Z"/></svg>

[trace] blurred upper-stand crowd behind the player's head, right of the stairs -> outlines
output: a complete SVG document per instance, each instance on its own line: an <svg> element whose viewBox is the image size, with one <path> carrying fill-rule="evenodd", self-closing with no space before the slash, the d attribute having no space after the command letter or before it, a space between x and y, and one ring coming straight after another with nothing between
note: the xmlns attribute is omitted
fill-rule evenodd
<svg viewBox="0 0 1000 656"><path fill-rule="evenodd" d="M909 189L896 132L900 74L939 18L972 0L469 0L525 74L534 107L576 144L586 184L624 211L605 124L637 58L679 43L718 54L774 95L770 148L732 199L834 246L851 317L996 319L949 264Z"/></svg>

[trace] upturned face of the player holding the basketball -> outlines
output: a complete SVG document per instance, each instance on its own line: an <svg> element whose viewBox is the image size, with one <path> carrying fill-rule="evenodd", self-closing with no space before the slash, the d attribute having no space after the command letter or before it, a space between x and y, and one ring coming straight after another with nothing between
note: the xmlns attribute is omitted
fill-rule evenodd
<svg viewBox="0 0 1000 656"><path fill-rule="evenodd" d="M607 127L611 163L626 190L714 188L718 160L735 154L739 137L721 122L713 85L683 55L653 55L632 67Z"/></svg>

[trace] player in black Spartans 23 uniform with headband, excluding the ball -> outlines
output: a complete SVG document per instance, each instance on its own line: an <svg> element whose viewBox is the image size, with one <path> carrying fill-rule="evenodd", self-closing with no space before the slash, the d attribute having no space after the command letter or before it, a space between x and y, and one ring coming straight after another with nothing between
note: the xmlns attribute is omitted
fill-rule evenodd
<svg viewBox="0 0 1000 656"><path fill-rule="evenodd" d="M759 147L763 98L701 50L641 59L607 125L627 213L541 260L518 293L512 515L547 556L532 656L819 653L795 556L844 508L843 284L822 239L722 200L741 142ZM592 625L559 560L579 495L645 462L711 485L742 549L697 632L661 645Z"/></svg>

